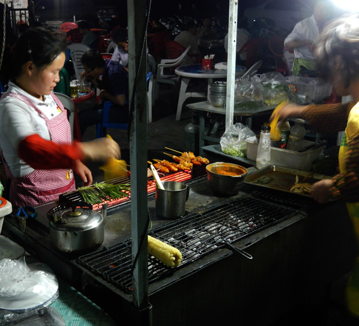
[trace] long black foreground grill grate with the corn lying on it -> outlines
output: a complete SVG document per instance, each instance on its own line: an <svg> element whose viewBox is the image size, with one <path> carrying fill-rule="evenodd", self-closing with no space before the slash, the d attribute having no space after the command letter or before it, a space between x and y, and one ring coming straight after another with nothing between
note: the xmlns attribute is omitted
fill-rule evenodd
<svg viewBox="0 0 359 326"><path fill-rule="evenodd" d="M297 210L292 208L241 196L158 228L153 231L153 236L178 248L182 253L182 262L171 269L149 257L148 281L153 283L173 274L177 269L225 246L225 241L235 242L297 214ZM81 256L78 263L126 293L131 293L131 240Z"/></svg>

